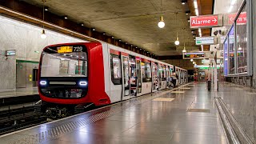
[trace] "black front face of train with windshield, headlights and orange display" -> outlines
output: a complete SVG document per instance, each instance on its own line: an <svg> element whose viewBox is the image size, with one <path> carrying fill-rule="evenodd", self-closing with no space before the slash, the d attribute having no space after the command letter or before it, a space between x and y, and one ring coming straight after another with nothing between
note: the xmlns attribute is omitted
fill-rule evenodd
<svg viewBox="0 0 256 144"><path fill-rule="evenodd" d="M82 98L88 90L86 46L54 46L42 52L39 90L50 98Z"/></svg>

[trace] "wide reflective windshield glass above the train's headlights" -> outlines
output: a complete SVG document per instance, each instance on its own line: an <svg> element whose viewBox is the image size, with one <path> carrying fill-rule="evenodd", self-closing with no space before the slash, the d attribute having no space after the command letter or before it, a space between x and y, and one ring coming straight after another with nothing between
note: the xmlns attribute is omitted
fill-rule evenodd
<svg viewBox="0 0 256 144"><path fill-rule="evenodd" d="M86 52L43 53L41 77L87 77Z"/></svg>

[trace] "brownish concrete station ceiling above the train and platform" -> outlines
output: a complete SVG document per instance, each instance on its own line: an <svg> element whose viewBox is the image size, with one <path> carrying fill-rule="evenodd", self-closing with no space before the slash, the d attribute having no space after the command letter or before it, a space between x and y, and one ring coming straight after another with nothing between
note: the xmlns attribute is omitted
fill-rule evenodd
<svg viewBox="0 0 256 144"><path fill-rule="evenodd" d="M212 14L213 1L198 0L199 14ZM43 5L41 0L22 2ZM157 56L181 55L184 42L187 51L201 50L194 45L188 22L190 14L194 15L193 0L188 0L186 5L182 5L181 0L162 0L162 6L161 0L46 0L44 5L49 8L48 12L60 18L66 15L72 22L84 23L86 27L106 32L116 40L121 39ZM191 12L188 15L185 14L187 10ZM158 28L161 15L166 23L163 29ZM174 45L177 33L179 46ZM210 30L202 30L202 34L210 35Z"/></svg>

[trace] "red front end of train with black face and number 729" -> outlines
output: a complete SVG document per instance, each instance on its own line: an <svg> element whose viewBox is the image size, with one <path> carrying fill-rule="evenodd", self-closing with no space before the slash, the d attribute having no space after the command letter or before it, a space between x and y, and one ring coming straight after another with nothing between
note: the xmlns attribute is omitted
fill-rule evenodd
<svg viewBox="0 0 256 144"><path fill-rule="evenodd" d="M39 67L41 110L50 117L65 117L88 105L110 103L104 90L101 43L47 46Z"/></svg>

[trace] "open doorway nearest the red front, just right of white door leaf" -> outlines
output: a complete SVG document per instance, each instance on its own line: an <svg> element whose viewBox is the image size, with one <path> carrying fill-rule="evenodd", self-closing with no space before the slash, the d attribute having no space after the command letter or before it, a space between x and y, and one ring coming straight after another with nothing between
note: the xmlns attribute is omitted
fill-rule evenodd
<svg viewBox="0 0 256 144"><path fill-rule="evenodd" d="M129 58L129 75L130 75L130 96L137 94L137 69L135 57L130 55Z"/></svg>

